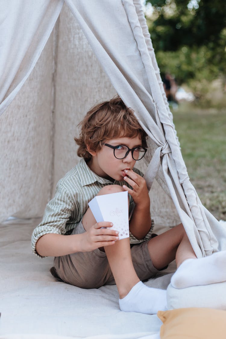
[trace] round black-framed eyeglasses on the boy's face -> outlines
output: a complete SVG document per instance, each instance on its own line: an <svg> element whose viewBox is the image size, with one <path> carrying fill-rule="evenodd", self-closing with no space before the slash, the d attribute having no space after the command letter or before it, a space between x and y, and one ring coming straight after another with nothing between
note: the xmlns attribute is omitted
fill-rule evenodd
<svg viewBox="0 0 226 339"><path fill-rule="evenodd" d="M114 149L114 156L117 159L124 159L125 157L127 157L129 152L131 151L133 160L141 160L143 156L145 155L145 153L147 152L147 148L144 148L142 146L129 148L126 145L112 146L112 145L105 144L105 143L104 145Z"/></svg>

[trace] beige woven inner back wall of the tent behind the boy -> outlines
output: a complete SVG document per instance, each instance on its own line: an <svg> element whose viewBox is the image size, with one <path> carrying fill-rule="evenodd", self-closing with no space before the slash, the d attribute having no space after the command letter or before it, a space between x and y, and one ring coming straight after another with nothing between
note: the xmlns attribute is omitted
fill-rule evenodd
<svg viewBox="0 0 226 339"><path fill-rule="evenodd" d="M74 141L77 124L93 104L114 95L108 76L64 4L32 73L0 117L1 220L43 216L56 183L79 161ZM136 166L146 171L143 160ZM156 223L180 222L172 199L156 181L150 196Z"/></svg>

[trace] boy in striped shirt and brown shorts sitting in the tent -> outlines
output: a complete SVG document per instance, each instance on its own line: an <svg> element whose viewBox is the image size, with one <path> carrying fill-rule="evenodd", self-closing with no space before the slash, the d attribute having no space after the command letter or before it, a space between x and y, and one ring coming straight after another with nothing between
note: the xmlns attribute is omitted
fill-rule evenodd
<svg viewBox="0 0 226 339"><path fill-rule="evenodd" d="M33 252L55 257L51 273L69 284L99 288L116 283L122 311L165 310L166 291L147 287L142 280L155 276L175 258L180 266L196 255L182 224L151 238L146 182L133 168L146 152L146 134L119 97L91 108L80 126L75 140L82 160L58 182L55 197L33 232ZM88 202L96 195L122 191L129 193L129 211L132 201L135 208L130 239L119 241L118 232L106 228L112 226L110 222L96 223ZM183 265L188 262L173 276L175 287L186 287ZM187 280L193 283L189 274Z"/></svg>

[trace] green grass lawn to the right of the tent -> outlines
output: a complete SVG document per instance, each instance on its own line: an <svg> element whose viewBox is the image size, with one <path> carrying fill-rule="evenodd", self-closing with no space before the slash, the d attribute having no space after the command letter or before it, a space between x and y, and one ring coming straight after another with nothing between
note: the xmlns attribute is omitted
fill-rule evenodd
<svg viewBox="0 0 226 339"><path fill-rule="evenodd" d="M203 205L226 220L226 108L172 111L188 175Z"/></svg>

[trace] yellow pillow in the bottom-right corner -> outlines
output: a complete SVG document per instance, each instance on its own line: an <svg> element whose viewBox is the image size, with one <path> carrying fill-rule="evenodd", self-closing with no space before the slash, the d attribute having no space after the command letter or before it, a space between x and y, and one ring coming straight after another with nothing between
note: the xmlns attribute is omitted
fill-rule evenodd
<svg viewBox="0 0 226 339"><path fill-rule="evenodd" d="M161 339L225 339L226 311L213 308L176 308L159 311Z"/></svg>

